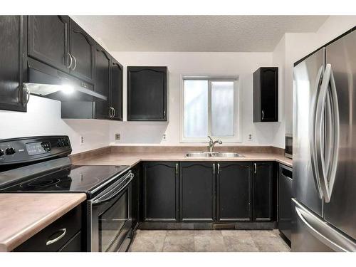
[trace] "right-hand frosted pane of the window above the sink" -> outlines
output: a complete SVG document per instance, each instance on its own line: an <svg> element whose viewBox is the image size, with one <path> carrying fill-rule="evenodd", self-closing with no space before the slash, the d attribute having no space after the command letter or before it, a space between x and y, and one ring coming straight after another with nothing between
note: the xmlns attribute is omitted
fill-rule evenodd
<svg viewBox="0 0 356 267"><path fill-rule="evenodd" d="M211 82L211 134L234 136L234 82Z"/></svg>

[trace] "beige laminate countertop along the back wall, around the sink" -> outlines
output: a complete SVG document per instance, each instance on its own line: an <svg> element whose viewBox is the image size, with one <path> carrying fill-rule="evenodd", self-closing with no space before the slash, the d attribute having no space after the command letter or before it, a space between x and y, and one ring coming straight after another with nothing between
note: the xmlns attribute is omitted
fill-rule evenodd
<svg viewBox="0 0 356 267"><path fill-rule="evenodd" d="M98 155L88 159L74 161L74 164L86 165L130 165L140 161L276 161L292 167L292 159L273 153L241 153L244 157L185 157L186 153L172 152L120 152L108 155Z"/></svg>

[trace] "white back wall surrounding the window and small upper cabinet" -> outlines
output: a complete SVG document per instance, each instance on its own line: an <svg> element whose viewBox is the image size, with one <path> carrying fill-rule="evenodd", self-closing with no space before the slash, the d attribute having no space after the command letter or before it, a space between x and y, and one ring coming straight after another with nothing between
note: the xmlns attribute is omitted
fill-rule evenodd
<svg viewBox="0 0 356 267"><path fill-rule="evenodd" d="M252 122L252 73L261 66L271 66L272 53L113 52L112 56L125 67L167 66L169 70L169 122L110 122L112 145L192 145L179 143L179 86L181 75L191 74L239 75L242 143L235 145L271 145L273 142L273 124ZM126 88L124 79L125 119ZM115 142L115 132L120 133L120 142ZM164 133L167 134L167 140L162 140ZM248 141L250 133L253 135L252 141Z"/></svg>

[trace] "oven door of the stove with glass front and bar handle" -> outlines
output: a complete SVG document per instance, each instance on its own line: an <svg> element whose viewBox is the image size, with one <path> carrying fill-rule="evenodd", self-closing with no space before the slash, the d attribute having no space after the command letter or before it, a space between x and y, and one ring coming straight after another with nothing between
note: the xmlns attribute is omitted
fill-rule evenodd
<svg viewBox="0 0 356 267"><path fill-rule="evenodd" d="M108 189L89 201L90 251L119 251L122 242L130 233L133 177L131 171L127 172Z"/></svg>

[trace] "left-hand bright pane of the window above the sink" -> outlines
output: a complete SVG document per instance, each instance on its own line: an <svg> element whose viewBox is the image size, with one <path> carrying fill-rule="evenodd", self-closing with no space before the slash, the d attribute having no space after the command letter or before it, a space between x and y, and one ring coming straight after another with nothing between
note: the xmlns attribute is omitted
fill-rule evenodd
<svg viewBox="0 0 356 267"><path fill-rule="evenodd" d="M208 135L208 81L184 80L184 137Z"/></svg>

